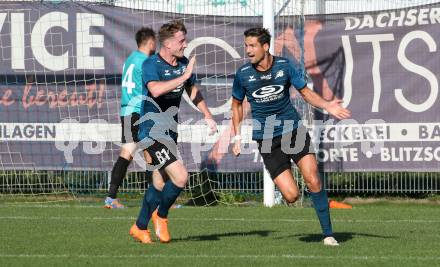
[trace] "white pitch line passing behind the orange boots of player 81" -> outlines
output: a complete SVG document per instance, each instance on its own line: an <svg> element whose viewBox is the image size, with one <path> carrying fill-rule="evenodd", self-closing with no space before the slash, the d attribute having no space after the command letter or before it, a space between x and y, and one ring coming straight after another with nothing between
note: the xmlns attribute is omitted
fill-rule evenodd
<svg viewBox="0 0 440 267"><path fill-rule="evenodd" d="M115 217L72 217L72 216L0 216L0 220L96 220L96 221L126 221L135 220L132 216L115 216ZM253 219L253 218L172 218L176 221L190 221L190 222L314 222L315 219ZM344 220L333 219L334 222L341 223L440 223L440 220Z"/></svg>

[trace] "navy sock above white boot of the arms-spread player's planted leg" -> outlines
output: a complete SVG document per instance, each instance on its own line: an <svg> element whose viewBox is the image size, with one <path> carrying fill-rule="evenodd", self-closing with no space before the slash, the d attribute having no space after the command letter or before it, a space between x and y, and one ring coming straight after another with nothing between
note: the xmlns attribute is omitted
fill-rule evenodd
<svg viewBox="0 0 440 267"><path fill-rule="evenodd" d="M332 236L332 222L330 221L330 211L328 207L327 192L325 189L321 189L319 192L310 192L313 206L318 215L319 223L321 224L322 233L324 236Z"/></svg>

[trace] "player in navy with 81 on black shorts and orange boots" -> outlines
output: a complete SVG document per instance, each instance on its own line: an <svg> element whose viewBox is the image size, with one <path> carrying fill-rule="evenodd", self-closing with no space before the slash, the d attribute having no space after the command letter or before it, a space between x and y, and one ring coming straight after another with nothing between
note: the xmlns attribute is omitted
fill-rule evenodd
<svg viewBox="0 0 440 267"><path fill-rule="evenodd" d="M186 33L180 21L162 25L158 33L160 51L143 64L145 99L139 139L157 169L153 171L153 183L145 192L138 219L130 229L130 235L142 243L152 242L147 230L150 219L159 240L162 243L171 240L168 210L188 180L188 171L177 159L177 111L184 91L203 113L210 133L217 131L212 114L195 86L192 73L195 58L188 60L183 54L187 47Z"/></svg>

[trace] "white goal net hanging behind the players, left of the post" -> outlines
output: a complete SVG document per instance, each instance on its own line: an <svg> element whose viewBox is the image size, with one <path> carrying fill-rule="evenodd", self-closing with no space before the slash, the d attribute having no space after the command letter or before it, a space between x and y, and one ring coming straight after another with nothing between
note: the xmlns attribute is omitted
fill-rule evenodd
<svg viewBox="0 0 440 267"><path fill-rule="evenodd" d="M0 199L65 199L107 191L120 151L122 65L142 26L181 19L195 55L197 86L219 125L208 136L186 95L179 151L190 172L189 203L229 202L263 190L263 164L243 128L231 153L231 90L246 62L243 32L262 26L264 0L0 2ZM303 1L274 1L274 51L304 72ZM300 98L298 109L310 114ZM249 117L249 115L248 115ZM150 175L136 154L120 193L143 193Z"/></svg>

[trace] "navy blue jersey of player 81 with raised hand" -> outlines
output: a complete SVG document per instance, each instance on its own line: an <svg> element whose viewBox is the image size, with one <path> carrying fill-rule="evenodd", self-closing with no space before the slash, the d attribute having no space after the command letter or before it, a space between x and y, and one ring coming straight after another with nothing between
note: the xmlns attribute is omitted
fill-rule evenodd
<svg viewBox="0 0 440 267"><path fill-rule="evenodd" d="M176 89L159 97L153 97L147 86L152 81L168 81L182 76L187 65L188 59L186 57L178 59L177 65L172 66L159 54L155 54L144 61L142 65L143 94L148 98L142 101L142 122L139 128L140 140L145 137L157 139L158 135L164 134L163 130L165 130L166 135L174 140L177 139L177 110L180 106L183 91L194 85L195 75L193 74L190 79ZM144 120L145 118L147 120Z"/></svg>

